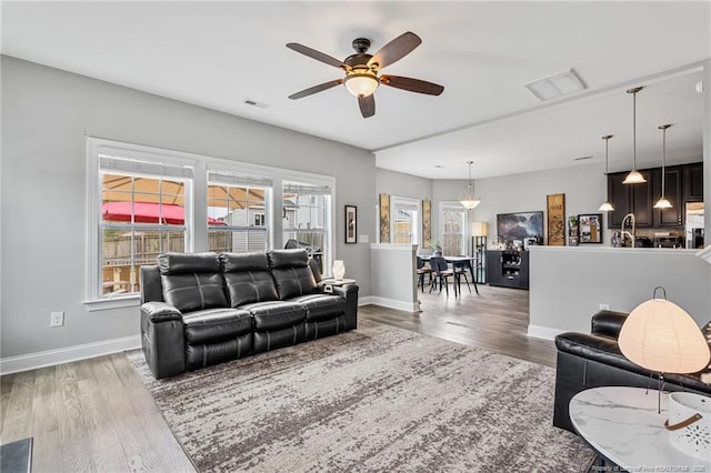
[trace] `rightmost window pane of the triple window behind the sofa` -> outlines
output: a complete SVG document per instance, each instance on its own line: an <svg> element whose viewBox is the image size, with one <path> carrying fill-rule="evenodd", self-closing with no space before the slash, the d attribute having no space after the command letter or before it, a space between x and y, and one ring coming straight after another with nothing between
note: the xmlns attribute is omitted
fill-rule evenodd
<svg viewBox="0 0 711 473"><path fill-rule="evenodd" d="M331 185L284 181L282 227L287 248L306 248L321 268L331 268Z"/></svg>

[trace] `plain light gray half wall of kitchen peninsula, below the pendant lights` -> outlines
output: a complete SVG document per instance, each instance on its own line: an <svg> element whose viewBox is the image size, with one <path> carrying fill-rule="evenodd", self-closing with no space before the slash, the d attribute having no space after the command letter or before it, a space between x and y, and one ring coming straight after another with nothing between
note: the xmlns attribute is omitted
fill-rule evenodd
<svg viewBox="0 0 711 473"><path fill-rule="evenodd" d="M590 332L601 306L630 312L663 286L701 325L711 319L711 264L702 251L603 245L530 246L528 333Z"/></svg>

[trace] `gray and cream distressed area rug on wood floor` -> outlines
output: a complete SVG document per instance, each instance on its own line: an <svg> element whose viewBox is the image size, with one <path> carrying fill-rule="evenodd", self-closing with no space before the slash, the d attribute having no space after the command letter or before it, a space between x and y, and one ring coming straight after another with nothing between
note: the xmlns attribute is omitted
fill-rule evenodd
<svg viewBox="0 0 711 473"><path fill-rule="evenodd" d="M584 471L553 427L551 368L373 322L152 379L129 359L201 472Z"/></svg>

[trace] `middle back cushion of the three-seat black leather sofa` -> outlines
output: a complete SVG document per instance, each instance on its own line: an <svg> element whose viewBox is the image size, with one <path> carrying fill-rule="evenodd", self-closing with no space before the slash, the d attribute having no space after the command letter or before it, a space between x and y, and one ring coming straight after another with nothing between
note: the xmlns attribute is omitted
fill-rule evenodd
<svg viewBox="0 0 711 473"><path fill-rule="evenodd" d="M220 261L231 306L279 299L266 252L222 253Z"/></svg>

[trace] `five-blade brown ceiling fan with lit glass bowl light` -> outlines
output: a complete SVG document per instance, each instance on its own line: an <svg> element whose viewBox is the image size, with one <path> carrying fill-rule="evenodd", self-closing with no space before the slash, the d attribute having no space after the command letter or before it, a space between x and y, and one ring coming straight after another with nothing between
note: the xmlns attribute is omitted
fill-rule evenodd
<svg viewBox="0 0 711 473"><path fill-rule="evenodd" d="M421 42L422 40L420 37L408 31L383 46L380 51L374 54L368 54L365 51L370 48L370 40L365 38L357 38L352 43L356 54L349 56L343 61L339 61L336 58L303 44L290 42L287 44L287 48L293 49L294 51L316 59L317 61L342 69L346 72L346 77L310 87L301 92L289 95L289 98L292 100L302 99L313 93L328 90L332 87L344 84L346 89L348 89L350 93L358 97L358 104L363 118L369 118L375 114L375 99L373 98L373 92L380 84L394 87L409 92L439 95L442 93L444 88L437 83L400 76L378 76L378 72L381 69L404 58L412 52L414 48L420 46Z"/></svg>

